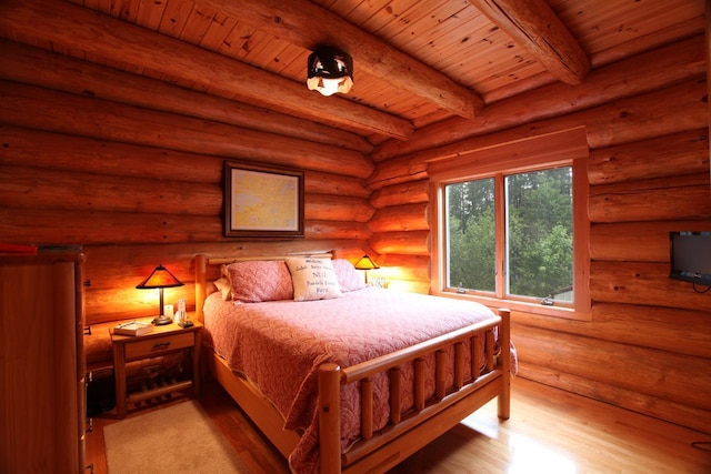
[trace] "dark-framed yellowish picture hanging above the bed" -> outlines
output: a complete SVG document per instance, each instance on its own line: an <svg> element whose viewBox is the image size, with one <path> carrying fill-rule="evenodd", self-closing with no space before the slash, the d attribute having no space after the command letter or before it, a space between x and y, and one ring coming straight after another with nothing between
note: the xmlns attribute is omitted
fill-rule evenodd
<svg viewBox="0 0 711 474"><path fill-rule="evenodd" d="M303 171L226 161L224 236L302 238Z"/></svg>

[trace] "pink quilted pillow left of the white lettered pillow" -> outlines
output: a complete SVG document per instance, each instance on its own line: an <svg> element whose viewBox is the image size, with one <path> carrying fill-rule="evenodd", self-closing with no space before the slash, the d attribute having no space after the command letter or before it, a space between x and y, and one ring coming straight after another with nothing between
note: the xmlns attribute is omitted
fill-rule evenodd
<svg viewBox="0 0 711 474"><path fill-rule="evenodd" d="M227 273L233 300L259 303L293 297L291 274L283 260L230 263Z"/></svg>

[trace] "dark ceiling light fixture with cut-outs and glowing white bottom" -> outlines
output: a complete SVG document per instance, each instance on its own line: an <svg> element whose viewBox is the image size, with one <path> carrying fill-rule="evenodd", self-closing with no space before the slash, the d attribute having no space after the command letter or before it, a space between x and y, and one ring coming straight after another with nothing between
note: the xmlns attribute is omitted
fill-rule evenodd
<svg viewBox="0 0 711 474"><path fill-rule="evenodd" d="M313 51L309 54L307 85L323 95L348 93L353 87L353 59L332 47Z"/></svg>

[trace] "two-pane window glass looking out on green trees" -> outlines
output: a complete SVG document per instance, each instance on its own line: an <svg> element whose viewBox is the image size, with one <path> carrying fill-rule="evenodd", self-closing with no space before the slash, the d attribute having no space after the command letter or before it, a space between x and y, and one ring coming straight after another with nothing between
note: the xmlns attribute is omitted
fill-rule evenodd
<svg viewBox="0 0 711 474"><path fill-rule="evenodd" d="M497 293L499 281L507 297L573 302L572 167L445 184L444 195L448 288ZM505 242L499 259L497 239Z"/></svg>

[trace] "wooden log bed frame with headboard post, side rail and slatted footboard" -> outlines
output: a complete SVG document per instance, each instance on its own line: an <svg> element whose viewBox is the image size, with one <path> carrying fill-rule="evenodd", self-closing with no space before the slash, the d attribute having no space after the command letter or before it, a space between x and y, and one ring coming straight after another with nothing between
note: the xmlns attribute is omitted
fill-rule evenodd
<svg viewBox="0 0 711 474"><path fill-rule="evenodd" d="M267 259L264 259L267 260ZM196 301L198 319L202 320L202 304L207 296L206 268L208 263L224 263L224 259L196 258ZM494 351L494 329L499 327L499 346ZM475 340L484 342L484 361L472 350L471 367L464 367L465 347L475 347ZM469 342L469 344L468 344ZM208 370L234 399L240 407L269 437L284 457L293 451L300 434L284 431L279 411L251 383L233 373L224 360L204 347ZM453 354L453 387L445 386L448 354ZM425 357L434 357L434 396L424 396ZM401 413L399 366L414 367L414 407ZM483 363L483 364L482 364ZM479 367L484 366L480 373ZM350 367L323 364L319 369L319 452L320 472L384 472L413 454L431 441L455 426L461 420L498 396L498 414L510 414L511 383L510 313L443 334ZM479 374L468 376L465 374ZM390 380L390 420L379 431L373 430L373 383L378 374ZM340 393L344 385L360 383L361 440L347 453L341 452Z"/></svg>

